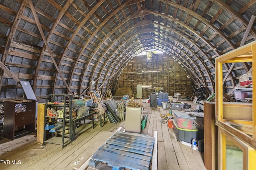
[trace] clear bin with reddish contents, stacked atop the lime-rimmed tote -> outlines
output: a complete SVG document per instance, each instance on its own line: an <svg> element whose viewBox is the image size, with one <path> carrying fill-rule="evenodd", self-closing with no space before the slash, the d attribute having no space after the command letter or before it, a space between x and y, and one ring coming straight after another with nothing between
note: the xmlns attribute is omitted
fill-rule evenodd
<svg viewBox="0 0 256 170"><path fill-rule="evenodd" d="M173 111L174 122L179 128L192 129L194 117L188 115L188 113Z"/></svg>

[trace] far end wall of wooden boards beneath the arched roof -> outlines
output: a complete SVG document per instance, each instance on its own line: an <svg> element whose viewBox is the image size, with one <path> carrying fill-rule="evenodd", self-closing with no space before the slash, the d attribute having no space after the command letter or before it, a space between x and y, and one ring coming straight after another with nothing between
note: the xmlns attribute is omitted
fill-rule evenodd
<svg viewBox="0 0 256 170"><path fill-rule="evenodd" d="M163 87L169 96L180 93L183 98L192 97L194 89L188 73L166 54L158 54L152 60L147 60L146 55L134 57L122 71L116 89L132 88L135 96L137 84L142 84L142 98L148 98L155 87Z"/></svg>

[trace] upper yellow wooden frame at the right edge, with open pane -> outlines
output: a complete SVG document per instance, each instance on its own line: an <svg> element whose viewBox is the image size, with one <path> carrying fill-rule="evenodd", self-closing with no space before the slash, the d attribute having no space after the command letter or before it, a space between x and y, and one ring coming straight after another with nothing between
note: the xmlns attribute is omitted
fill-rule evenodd
<svg viewBox="0 0 256 170"><path fill-rule="evenodd" d="M246 141L248 144L252 145L256 148L256 109L254 109L253 102L256 101L256 90L252 90L252 103L243 104L246 109L247 114L251 114L252 116L243 119L242 114L244 113L244 109L241 109L241 104L237 103L236 105L230 107L228 106L230 103L224 103L222 101L223 98L223 75L222 69L224 63L244 63L244 62L252 62L252 68L256 67L256 41L244 45L238 49L235 49L229 53L226 53L220 57L215 59L215 68L216 68L216 125L222 127L229 131L231 134L234 134L236 137ZM256 75L256 69L252 69L252 75ZM252 84L254 87L256 86L256 78L252 78ZM253 87L253 88L254 88ZM252 136L243 133L242 131L228 125L225 123L227 119L224 119L225 114L230 112L231 110L236 110L238 113L242 113L240 119L236 117L236 121L238 123L246 123L247 125L252 125L253 132Z"/></svg>

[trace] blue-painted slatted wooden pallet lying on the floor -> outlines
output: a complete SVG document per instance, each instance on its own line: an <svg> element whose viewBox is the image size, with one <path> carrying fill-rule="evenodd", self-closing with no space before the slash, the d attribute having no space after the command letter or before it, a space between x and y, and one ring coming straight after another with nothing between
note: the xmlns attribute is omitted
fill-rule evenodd
<svg viewBox="0 0 256 170"><path fill-rule="evenodd" d="M89 161L90 168L106 162L113 170L149 170L154 137L144 134L116 131Z"/></svg>

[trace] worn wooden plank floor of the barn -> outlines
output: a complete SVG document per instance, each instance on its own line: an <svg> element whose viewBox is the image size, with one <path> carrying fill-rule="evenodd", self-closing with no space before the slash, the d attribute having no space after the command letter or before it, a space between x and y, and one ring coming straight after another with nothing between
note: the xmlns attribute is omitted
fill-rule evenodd
<svg viewBox="0 0 256 170"><path fill-rule="evenodd" d="M196 105L190 101L185 101ZM173 129L167 123L161 123L160 113L168 113L168 109L150 108L149 103L142 103L148 121L143 134L158 136L158 170L206 170L204 155L198 150L182 145L177 141ZM90 128L64 149L60 145L36 143L36 133L9 141L0 140L1 170L77 170L86 169L90 156L119 128L125 127L125 121L117 124L106 123L100 127L99 122L94 129Z"/></svg>

